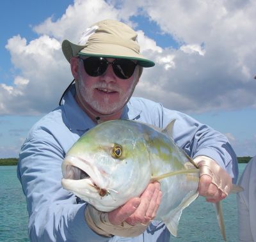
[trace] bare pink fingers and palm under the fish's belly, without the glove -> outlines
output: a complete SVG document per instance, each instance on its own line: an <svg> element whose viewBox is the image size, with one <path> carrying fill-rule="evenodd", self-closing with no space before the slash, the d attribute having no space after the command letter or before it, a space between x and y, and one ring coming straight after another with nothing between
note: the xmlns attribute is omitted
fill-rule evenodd
<svg viewBox="0 0 256 242"><path fill-rule="evenodd" d="M140 197L132 198L120 208L109 212L108 220L113 225L123 222L147 225L156 216L161 196L160 184L150 183Z"/></svg>

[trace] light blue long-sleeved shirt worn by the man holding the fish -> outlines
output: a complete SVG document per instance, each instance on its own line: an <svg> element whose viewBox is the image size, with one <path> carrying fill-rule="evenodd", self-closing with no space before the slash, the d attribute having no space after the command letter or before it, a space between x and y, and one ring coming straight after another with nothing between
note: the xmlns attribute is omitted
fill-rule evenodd
<svg viewBox="0 0 256 242"><path fill-rule="evenodd" d="M170 241L163 222L154 221L136 238L105 238L92 231L84 220L86 203L61 187L61 163L68 149L95 123L77 105L75 89L63 105L43 117L28 133L19 157L17 175L26 195L31 241ZM173 139L195 158L209 156L237 178L236 155L221 133L181 112L164 109L160 103L131 98L122 119L138 120L164 128L176 119Z"/></svg>

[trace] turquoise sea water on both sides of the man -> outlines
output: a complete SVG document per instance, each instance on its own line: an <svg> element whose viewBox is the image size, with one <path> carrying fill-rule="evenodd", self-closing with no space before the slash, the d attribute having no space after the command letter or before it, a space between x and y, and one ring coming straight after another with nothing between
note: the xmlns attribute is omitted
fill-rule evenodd
<svg viewBox="0 0 256 242"><path fill-rule="evenodd" d="M246 164L239 164L239 174ZM28 213L26 200L19 180L16 166L0 166L0 242L29 241ZM227 240L237 242L236 195L229 195L222 202ZM177 238L174 242L213 242L223 241L216 219L214 207L198 197L180 218Z"/></svg>

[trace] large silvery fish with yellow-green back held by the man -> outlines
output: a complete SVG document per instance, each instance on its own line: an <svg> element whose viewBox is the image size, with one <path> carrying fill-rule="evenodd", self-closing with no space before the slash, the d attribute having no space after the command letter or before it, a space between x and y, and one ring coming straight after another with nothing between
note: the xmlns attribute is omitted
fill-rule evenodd
<svg viewBox="0 0 256 242"><path fill-rule="evenodd" d="M182 210L198 196L199 175L193 160L173 142L173 124L164 130L127 120L95 126L65 156L63 188L108 212L158 180L163 195L155 219L177 236Z"/></svg>

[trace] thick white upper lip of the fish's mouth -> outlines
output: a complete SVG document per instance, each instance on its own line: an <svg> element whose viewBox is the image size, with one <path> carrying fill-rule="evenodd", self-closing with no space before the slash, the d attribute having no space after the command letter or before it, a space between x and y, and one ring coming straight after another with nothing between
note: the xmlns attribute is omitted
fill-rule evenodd
<svg viewBox="0 0 256 242"><path fill-rule="evenodd" d="M87 162L83 158L79 156L72 156L72 155L67 155L61 165L63 179L66 179L66 180L70 179L70 178L67 178L65 174L67 165L72 165L73 167L77 167L78 169L83 170L86 174L88 174L90 178L85 178L86 181L88 181L88 185L94 186L94 188L97 190L99 190L99 188L106 187L107 186L106 184L108 184L108 182L106 181L106 178L104 179L99 169L97 169L96 167L93 167L90 162ZM102 181L99 181L98 178L102 178Z"/></svg>

